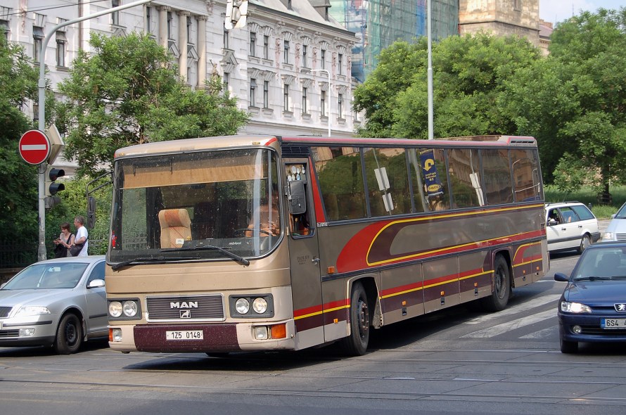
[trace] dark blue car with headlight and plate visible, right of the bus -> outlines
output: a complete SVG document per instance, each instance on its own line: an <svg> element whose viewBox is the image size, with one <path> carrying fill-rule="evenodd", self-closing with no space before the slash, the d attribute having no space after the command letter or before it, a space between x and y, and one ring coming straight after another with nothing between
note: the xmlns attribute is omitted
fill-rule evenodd
<svg viewBox="0 0 626 415"><path fill-rule="evenodd" d="M575 353L579 342L626 342L626 243L589 246L580 255L558 300L561 352Z"/></svg>

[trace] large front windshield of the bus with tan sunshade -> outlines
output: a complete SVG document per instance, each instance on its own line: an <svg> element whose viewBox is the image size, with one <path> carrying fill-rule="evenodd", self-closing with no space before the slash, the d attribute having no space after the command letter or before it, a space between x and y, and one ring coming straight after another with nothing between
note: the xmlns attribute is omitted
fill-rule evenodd
<svg viewBox="0 0 626 415"><path fill-rule="evenodd" d="M110 262L259 257L282 234L269 149L120 158L114 174Z"/></svg>

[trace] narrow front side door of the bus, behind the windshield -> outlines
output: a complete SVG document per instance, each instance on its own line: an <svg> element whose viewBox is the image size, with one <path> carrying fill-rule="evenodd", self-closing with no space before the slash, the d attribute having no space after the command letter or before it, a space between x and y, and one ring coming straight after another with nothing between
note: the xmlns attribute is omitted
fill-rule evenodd
<svg viewBox="0 0 626 415"><path fill-rule="evenodd" d="M286 162L288 244L296 348L324 342L319 245L307 160Z"/></svg>

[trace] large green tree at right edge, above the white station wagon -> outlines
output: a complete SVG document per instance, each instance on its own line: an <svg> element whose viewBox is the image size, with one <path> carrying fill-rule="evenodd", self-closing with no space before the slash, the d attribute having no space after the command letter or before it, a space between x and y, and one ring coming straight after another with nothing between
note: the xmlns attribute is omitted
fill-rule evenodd
<svg viewBox="0 0 626 415"><path fill-rule="evenodd" d="M592 184L611 203L609 184L626 182L626 9L561 23L547 60L518 75L509 111L537 137L547 181L564 190Z"/></svg>

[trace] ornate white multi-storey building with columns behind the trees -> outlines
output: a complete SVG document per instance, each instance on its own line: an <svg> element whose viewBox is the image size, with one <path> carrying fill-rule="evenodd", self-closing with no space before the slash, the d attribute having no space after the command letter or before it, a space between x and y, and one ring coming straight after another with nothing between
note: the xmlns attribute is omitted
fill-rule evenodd
<svg viewBox="0 0 626 415"><path fill-rule="evenodd" d="M53 27L134 0L2 0L0 30L39 65ZM313 6L315 4L316 6ZM247 25L225 30L226 0L157 0L60 28L45 53L53 85L68 75L90 32L148 32L177 60L194 88L217 74L250 113L240 134L351 136L354 33L328 18L328 0L251 0ZM330 78L330 84L328 79ZM37 117L37 103L26 109Z"/></svg>

